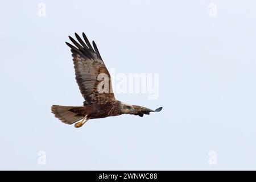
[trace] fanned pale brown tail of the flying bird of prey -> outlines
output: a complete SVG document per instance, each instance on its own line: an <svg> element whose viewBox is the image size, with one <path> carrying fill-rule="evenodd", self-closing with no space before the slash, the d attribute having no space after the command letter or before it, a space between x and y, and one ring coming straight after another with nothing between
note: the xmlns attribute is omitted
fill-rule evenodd
<svg viewBox="0 0 256 182"><path fill-rule="evenodd" d="M52 105L51 110L56 118L69 125L79 121L84 116L79 114L84 107Z"/></svg>

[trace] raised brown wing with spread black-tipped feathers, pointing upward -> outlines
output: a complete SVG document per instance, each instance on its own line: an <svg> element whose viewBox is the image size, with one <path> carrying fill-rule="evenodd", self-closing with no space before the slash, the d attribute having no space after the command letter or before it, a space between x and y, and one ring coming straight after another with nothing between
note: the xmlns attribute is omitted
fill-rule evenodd
<svg viewBox="0 0 256 182"><path fill-rule="evenodd" d="M71 48L76 82L84 97L84 105L115 101L110 74L96 44L93 41L92 47L84 32L82 33L84 41L76 33L75 36L79 43L71 36L69 39L76 47L67 42L66 44Z"/></svg>

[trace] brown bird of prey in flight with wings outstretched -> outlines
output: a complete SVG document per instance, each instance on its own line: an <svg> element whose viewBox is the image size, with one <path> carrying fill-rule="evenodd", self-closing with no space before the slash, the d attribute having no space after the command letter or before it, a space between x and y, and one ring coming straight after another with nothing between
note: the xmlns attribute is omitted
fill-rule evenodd
<svg viewBox="0 0 256 182"><path fill-rule="evenodd" d="M75 127L81 127L89 119L121 114L134 114L143 117L144 114L162 110L162 107L151 110L115 100L110 74L95 42L92 42L92 47L84 32L82 33L84 40L76 33L75 36L79 43L69 36L75 46L68 42L66 44L71 48L76 82L85 101L83 106L52 105L51 110L56 118L69 125L75 123Z"/></svg>

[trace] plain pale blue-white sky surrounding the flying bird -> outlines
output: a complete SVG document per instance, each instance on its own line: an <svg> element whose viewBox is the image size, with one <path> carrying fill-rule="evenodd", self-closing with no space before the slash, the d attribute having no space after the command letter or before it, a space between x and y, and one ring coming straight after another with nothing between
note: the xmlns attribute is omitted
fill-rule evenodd
<svg viewBox="0 0 256 182"><path fill-rule="evenodd" d="M46 17L38 3L46 3ZM208 14L216 3L217 16ZM1 1L0 169L256 169L254 1ZM159 73L160 113L76 129L52 104L82 105L68 35L108 69ZM46 152L46 165L38 164ZM217 154L210 165L209 151Z"/></svg>

